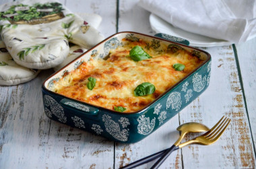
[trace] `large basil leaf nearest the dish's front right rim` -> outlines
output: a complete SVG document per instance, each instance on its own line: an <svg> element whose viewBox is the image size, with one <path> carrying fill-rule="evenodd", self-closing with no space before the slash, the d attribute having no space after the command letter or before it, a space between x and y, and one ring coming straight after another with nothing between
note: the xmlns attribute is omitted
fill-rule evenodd
<svg viewBox="0 0 256 169"><path fill-rule="evenodd" d="M156 90L156 87L149 82L141 83L137 88L134 90L135 96L146 96L148 94L153 94Z"/></svg>

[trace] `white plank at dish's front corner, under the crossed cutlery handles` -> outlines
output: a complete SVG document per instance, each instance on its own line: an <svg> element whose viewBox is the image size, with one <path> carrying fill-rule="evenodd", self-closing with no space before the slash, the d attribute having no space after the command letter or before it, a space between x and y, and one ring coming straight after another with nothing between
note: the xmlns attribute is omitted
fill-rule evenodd
<svg viewBox="0 0 256 169"><path fill-rule="evenodd" d="M126 166L131 162L170 147L179 138L179 132L176 130L178 126L179 115L177 114L157 131L137 143L116 143L115 168ZM162 164L163 167L181 168L181 151L174 151L167 160ZM138 168L150 168L154 162L156 160Z"/></svg>

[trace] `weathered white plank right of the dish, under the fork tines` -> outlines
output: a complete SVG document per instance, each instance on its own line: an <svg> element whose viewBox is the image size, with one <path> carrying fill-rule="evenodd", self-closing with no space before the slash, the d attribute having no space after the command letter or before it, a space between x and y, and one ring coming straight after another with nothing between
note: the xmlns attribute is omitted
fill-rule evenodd
<svg viewBox="0 0 256 169"><path fill-rule="evenodd" d="M180 114L181 123L197 121L212 127L223 115L232 121L213 145L184 147L184 166L255 168L255 154L232 46L206 50L212 55L210 86Z"/></svg>

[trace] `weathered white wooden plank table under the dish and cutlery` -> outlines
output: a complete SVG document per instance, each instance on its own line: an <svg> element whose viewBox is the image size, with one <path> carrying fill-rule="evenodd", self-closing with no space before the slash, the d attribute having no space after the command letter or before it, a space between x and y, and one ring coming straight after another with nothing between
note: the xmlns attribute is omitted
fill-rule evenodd
<svg viewBox="0 0 256 169"><path fill-rule="evenodd" d="M101 15L99 30L105 37L126 30L154 35L150 12L137 6L137 0L61 2L73 12ZM28 83L0 86L0 168L119 168L170 147L179 137L180 124L195 121L212 127L223 115L232 121L219 141L174 151L161 168L255 168L255 44L256 38L203 48L212 55L209 88L156 132L133 144L115 143L49 120L41 84L52 69Z"/></svg>

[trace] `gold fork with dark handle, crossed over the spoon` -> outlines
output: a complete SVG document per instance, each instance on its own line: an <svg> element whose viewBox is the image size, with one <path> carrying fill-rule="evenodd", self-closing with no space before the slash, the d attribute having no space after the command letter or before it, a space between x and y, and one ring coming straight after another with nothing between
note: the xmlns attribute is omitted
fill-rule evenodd
<svg viewBox="0 0 256 169"><path fill-rule="evenodd" d="M214 127L212 127L212 129L210 129L210 131L207 131L205 134L195 137L194 139L191 139L185 143L181 143L179 145L175 145L175 144L172 145L172 147L170 147L166 151L164 151L164 154L152 166L152 168L158 168L164 162L164 160L166 160L166 158L168 158L168 156L172 153L172 151L182 148L191 143L199 143L202 145L210 145L212 143L215 143L220 138L220 136L224 133L224 131L228 127L230 121L231 121L230 119L224 118L224 116L222 116L222 119L220 119L220 121L218 121L218 123L216 123L216 125L214 125Z"/></svg>

